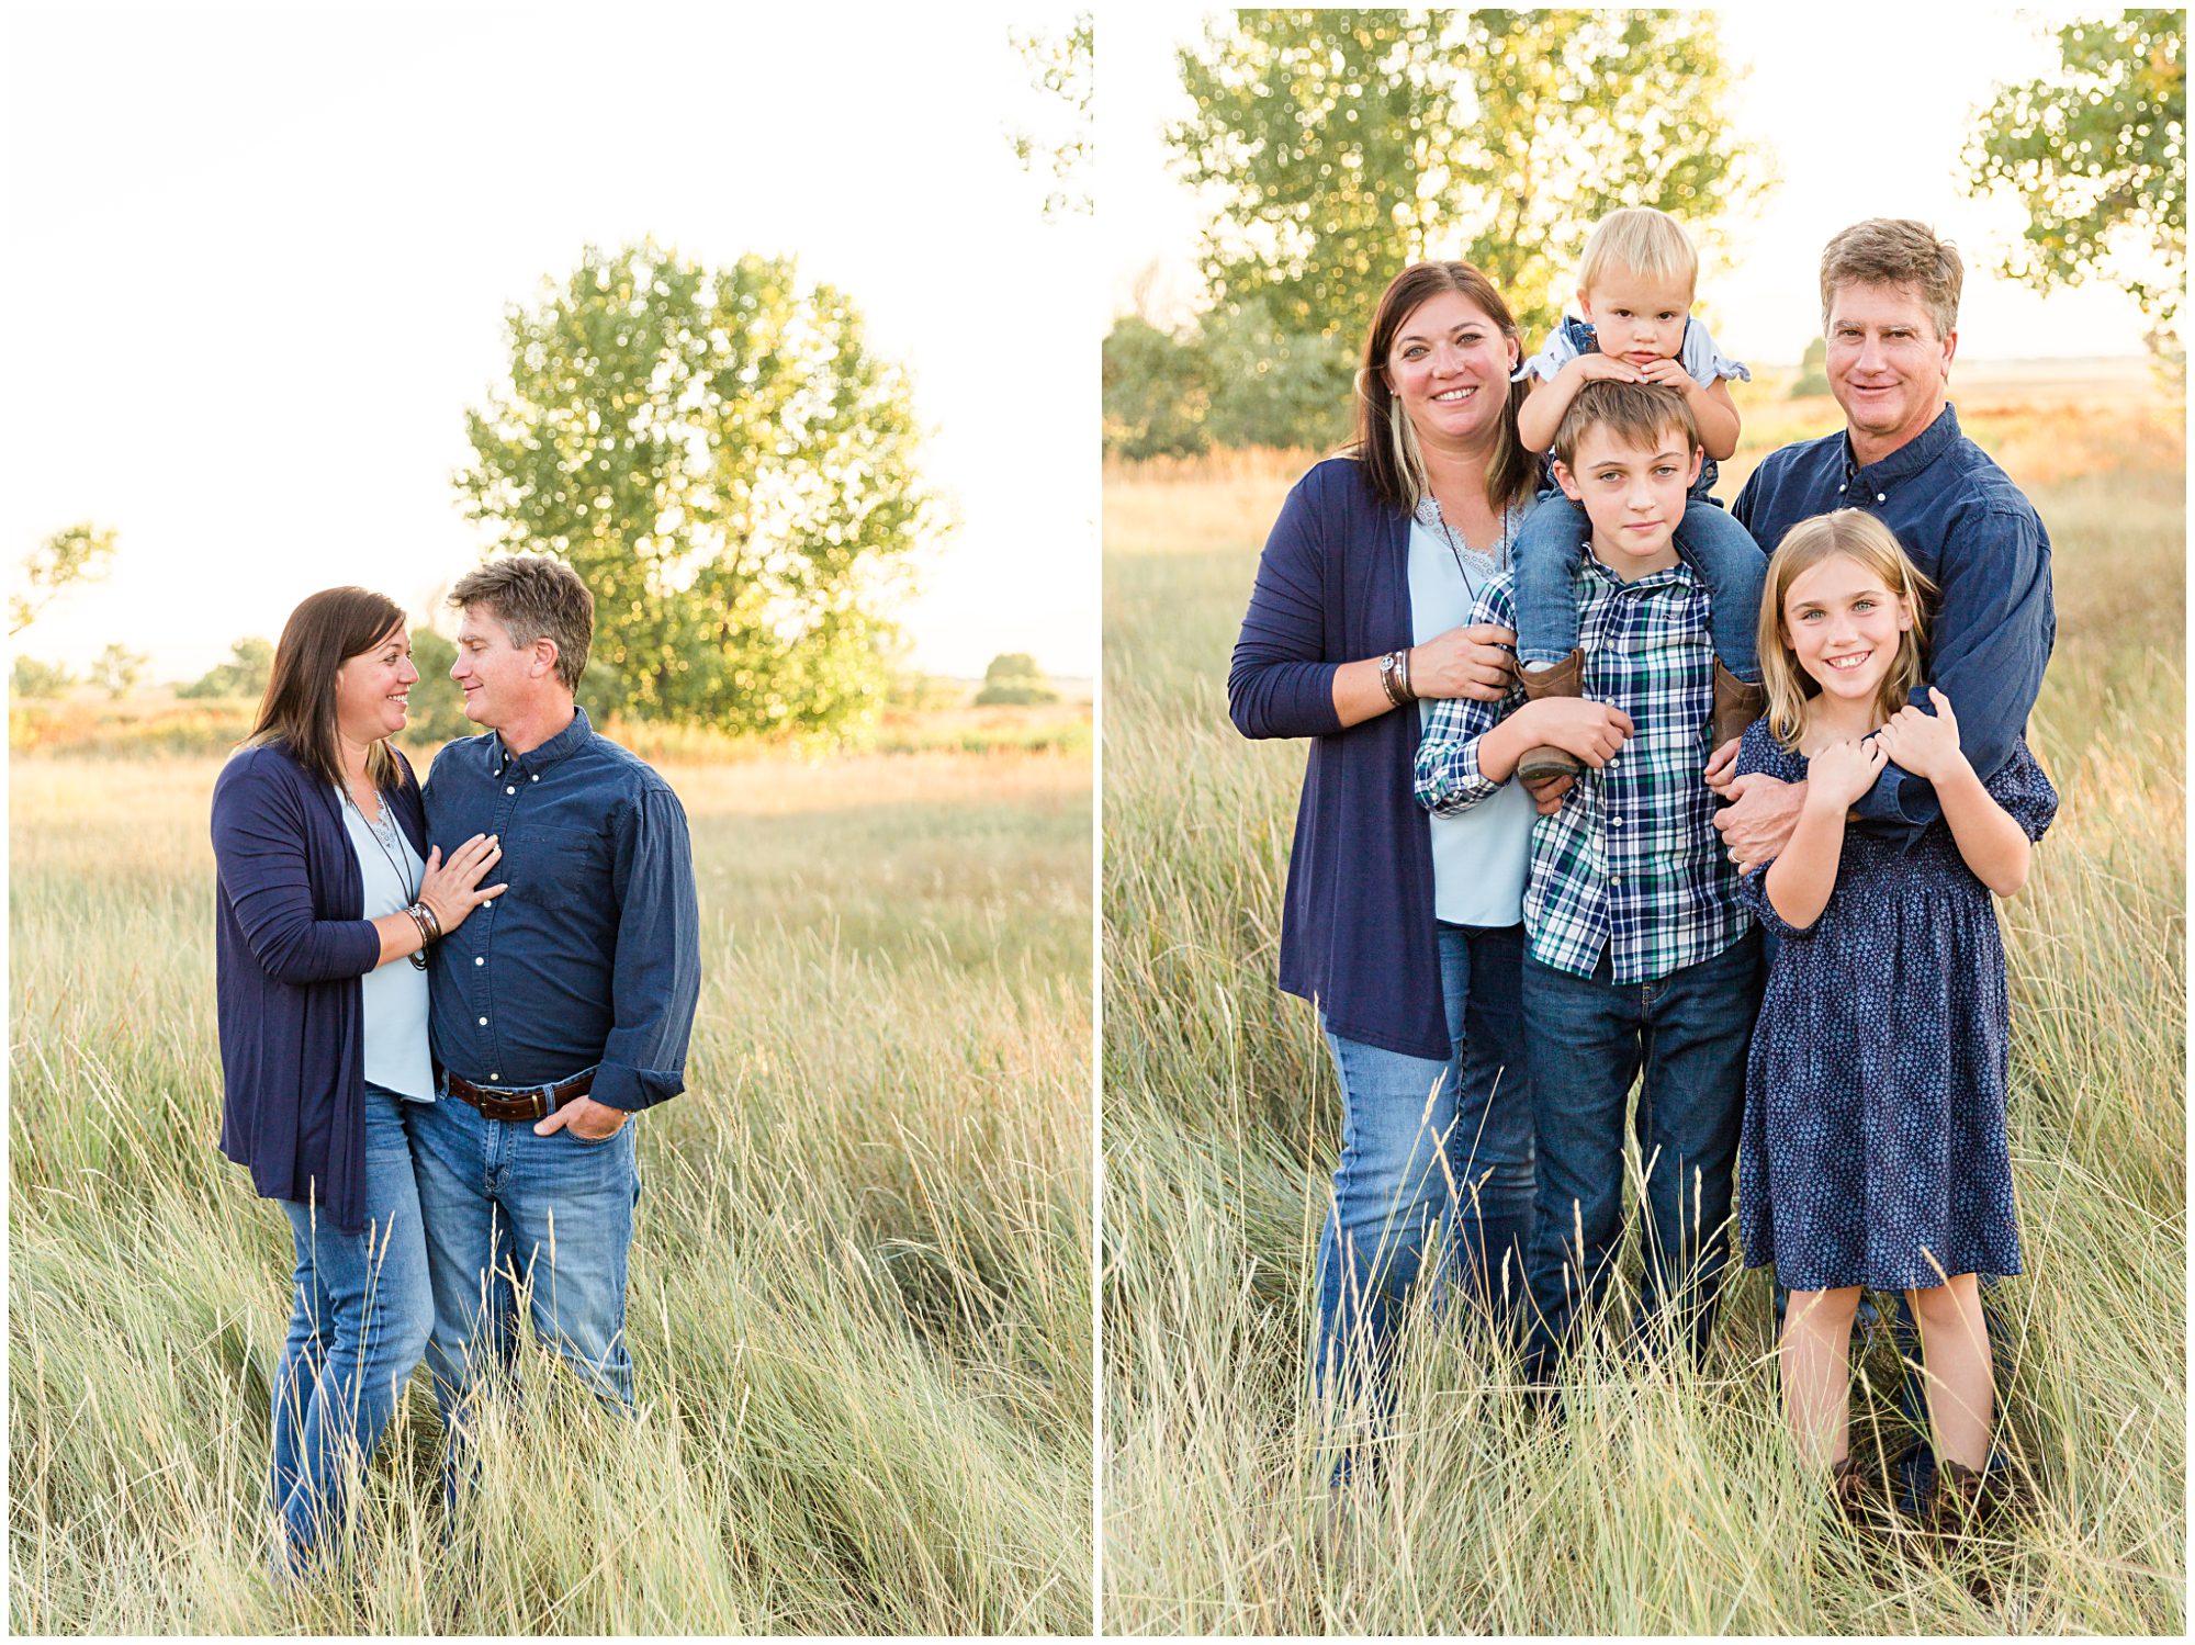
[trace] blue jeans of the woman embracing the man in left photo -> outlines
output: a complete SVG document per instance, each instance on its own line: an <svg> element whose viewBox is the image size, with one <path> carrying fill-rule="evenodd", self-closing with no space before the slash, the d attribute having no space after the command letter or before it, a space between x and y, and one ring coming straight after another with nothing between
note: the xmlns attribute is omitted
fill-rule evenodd
<svg viewBox="0 0 2195 1645"><path fill-rule="evenodd" d="M367 1226L281 1200L296 1239L290 1336L274 1366L270 1487L285 1575L327 1557L351 1498L426 1349L435 1307L402 1097L367 1086Z"/></svg>

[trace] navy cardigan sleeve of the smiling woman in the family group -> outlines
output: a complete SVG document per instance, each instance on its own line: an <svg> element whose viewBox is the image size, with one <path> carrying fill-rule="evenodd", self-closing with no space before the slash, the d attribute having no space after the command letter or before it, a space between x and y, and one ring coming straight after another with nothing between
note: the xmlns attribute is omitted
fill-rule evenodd
<svg viewBox="0 0 2195 1645"><path fill-rule="evenodd" d="M1227 715L1245 737L1328 737L1335 671L1326 658L1326 540L1310 485L1288 491L1258 557L1258 586L1227 667Z"/></svg>

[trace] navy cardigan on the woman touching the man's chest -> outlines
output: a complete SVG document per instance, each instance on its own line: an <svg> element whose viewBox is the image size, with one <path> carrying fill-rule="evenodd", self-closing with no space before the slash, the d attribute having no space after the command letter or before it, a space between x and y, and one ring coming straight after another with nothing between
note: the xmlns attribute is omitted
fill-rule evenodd
<svg viewBox="0 0 2195 1645"><path fill-rule="evenodd" d="M419 783L384 803L426 860ZM268 1200L367 1226L367 1040L360 978L382 956L336 787L288 748L248 748L213 785L213 976L222 1154Z"/></svg>

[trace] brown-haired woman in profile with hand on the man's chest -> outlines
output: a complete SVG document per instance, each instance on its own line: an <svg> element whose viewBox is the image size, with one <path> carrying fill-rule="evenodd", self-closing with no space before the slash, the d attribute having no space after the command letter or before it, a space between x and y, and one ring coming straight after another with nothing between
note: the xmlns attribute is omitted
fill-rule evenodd
<svg viewBox="0 0 2195 1645"><path fill-rule="evenodd" d="M296 1239L274 1373L277 1568L323 1564L432 1325L404 1105L432 1101L426 948L500 849L426 849L404 612L329 588L292 614L259 717L213 785L222 1152Z"/></svg>

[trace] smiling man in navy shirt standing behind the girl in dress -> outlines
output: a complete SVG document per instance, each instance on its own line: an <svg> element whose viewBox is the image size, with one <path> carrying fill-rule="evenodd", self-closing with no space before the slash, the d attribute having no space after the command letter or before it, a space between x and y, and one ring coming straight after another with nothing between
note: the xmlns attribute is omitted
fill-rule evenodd
<svg viewBox="0 0 2195 1645"><path fill-rule="evenodd" d="M1822 250L1822 325L1828 386L1846 430L1771 452L1738 494L1732 513L1765 548L1800 520L1831 509L1866 509L1936 583L1929 619L1929 680L1914 700L1929 713L1934 684L1958 715L1958 741L1982 776L2011 757L2026 730L2044 667L2057 638L2050 601L2050 533L2035 504L1980 445L1958 432L1947 399L1958 349L1958 252L1927 226L1875 217L1853 224ZM1771 862L1789 842L1804 783L1765 772L1730 781L1730 759L1708 781L1734 798L1714 825L1741 871ZM1859 801L1861 827L1914 840L1943 816L1936 792L1912 772L1886 765ZM1774 950L1769 950L1774 958ZM1989 1307L1995 1287L1982 1285ZM1782 1287L1776 1290L1778 1314ZM1912 1353L1912 1316L1899 1298L1901 1336ZM1866 1314L1861 1316L1866 1318ZM1927 1423L1927 1393L1907 1371L1905 1415ZM1991 1474L2002 1467L1991 1456ZM1899 1463L1907 1511L1927 1500L1934 1454L1914 1445Z"/></svg>

